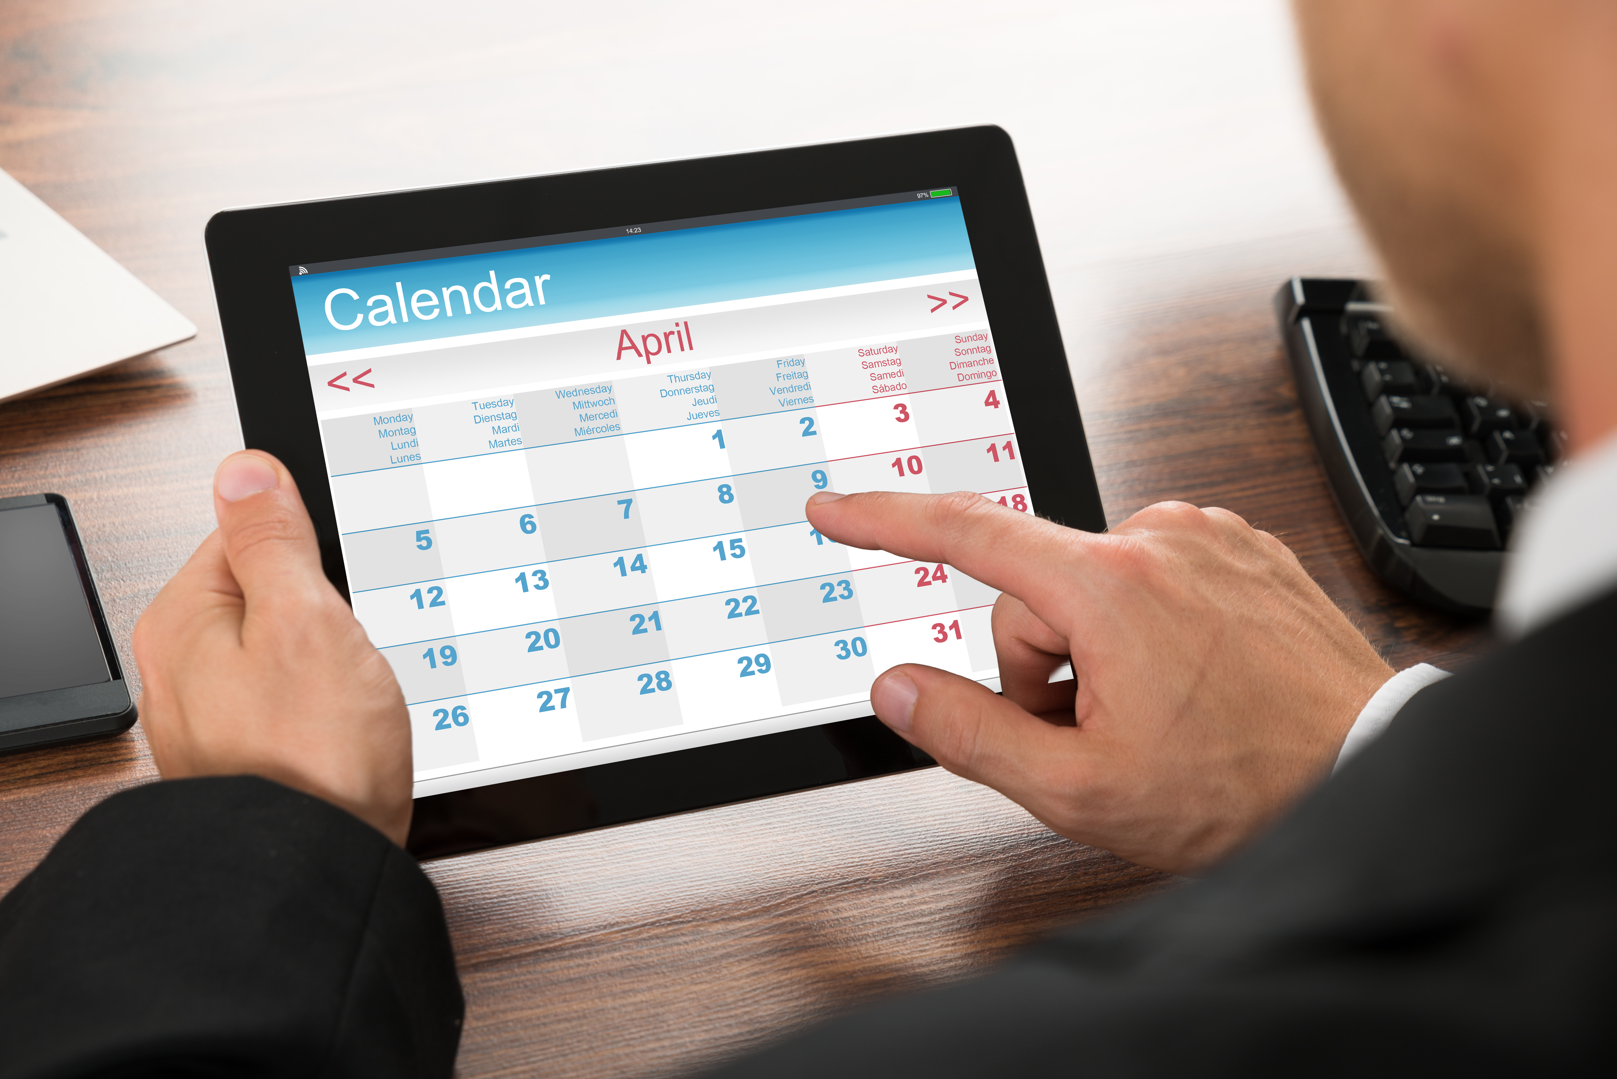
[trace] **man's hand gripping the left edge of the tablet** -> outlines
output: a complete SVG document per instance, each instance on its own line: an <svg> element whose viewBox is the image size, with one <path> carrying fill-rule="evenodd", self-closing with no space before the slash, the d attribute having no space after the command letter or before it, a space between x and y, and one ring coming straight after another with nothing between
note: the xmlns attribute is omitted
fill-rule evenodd
<svg viewBox="0 0 1617 1079"><path fill-rule="evenodd" d="M404 843L404 696L320 571L291 474L267 453L213 476L218 531L134 628L141 723L165 780L262 775Z"/></svg>

